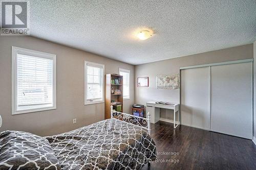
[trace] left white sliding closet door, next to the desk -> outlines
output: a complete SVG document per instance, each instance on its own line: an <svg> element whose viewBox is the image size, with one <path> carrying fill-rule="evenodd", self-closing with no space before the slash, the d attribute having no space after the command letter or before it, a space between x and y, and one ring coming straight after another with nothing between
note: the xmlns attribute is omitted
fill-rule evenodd
<svg viewBox="0 0 256 170"><path fill-rule="evenodd" d="M181 70L181 124L209 130L209 67Z"/></svg>

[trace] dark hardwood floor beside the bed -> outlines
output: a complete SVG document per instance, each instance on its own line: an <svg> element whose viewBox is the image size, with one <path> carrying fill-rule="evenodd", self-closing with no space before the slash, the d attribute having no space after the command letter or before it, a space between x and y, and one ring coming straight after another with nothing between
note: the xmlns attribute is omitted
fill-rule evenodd
<svg viewBox="0 0 256 170"><path fill-rule="evenodd" d="M151 126L158 162L145 165L143 170L256 169L256 146L252 140L182 125L174 130L173 124L162 121ZM179 155L172 155L177 152Z"/></svg>

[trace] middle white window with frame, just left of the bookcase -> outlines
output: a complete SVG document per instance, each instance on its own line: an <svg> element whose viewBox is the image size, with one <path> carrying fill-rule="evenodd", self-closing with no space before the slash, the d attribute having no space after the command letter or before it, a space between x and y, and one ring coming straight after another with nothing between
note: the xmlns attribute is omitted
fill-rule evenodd
<svg viewBox="0 0 256 170"><path fill-rule="evenodd" d="M84 105L104 102L104 65L84 62Z"/></svg>

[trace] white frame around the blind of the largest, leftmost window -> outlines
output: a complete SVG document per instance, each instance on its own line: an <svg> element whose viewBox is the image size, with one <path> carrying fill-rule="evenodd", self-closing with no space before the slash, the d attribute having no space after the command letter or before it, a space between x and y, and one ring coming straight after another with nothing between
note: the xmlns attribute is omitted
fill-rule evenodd
<svg viewBox="0 0 256 170"><path fill-rule="evenodd" d="M26 110L17 110L17 54L29 55L38 58L47 58L53 60L53 106L52 107L42 107L36 109L26 109ZM12 115L22 114L22 113L31 113L44 110L56 109L56 55L44 52L38 52L34 50L28 50L26 48L12 46Z"/></svg>

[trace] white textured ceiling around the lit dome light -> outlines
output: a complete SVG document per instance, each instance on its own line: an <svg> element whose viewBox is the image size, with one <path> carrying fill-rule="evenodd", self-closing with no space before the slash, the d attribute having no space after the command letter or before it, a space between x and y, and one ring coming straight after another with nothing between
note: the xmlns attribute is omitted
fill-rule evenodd
<svg viewBox="0 0 256 170"><path fill-rule="evenodd" d="M30 0L30 13L31 36L134 65L256 40L255 0Z"/></svg>

